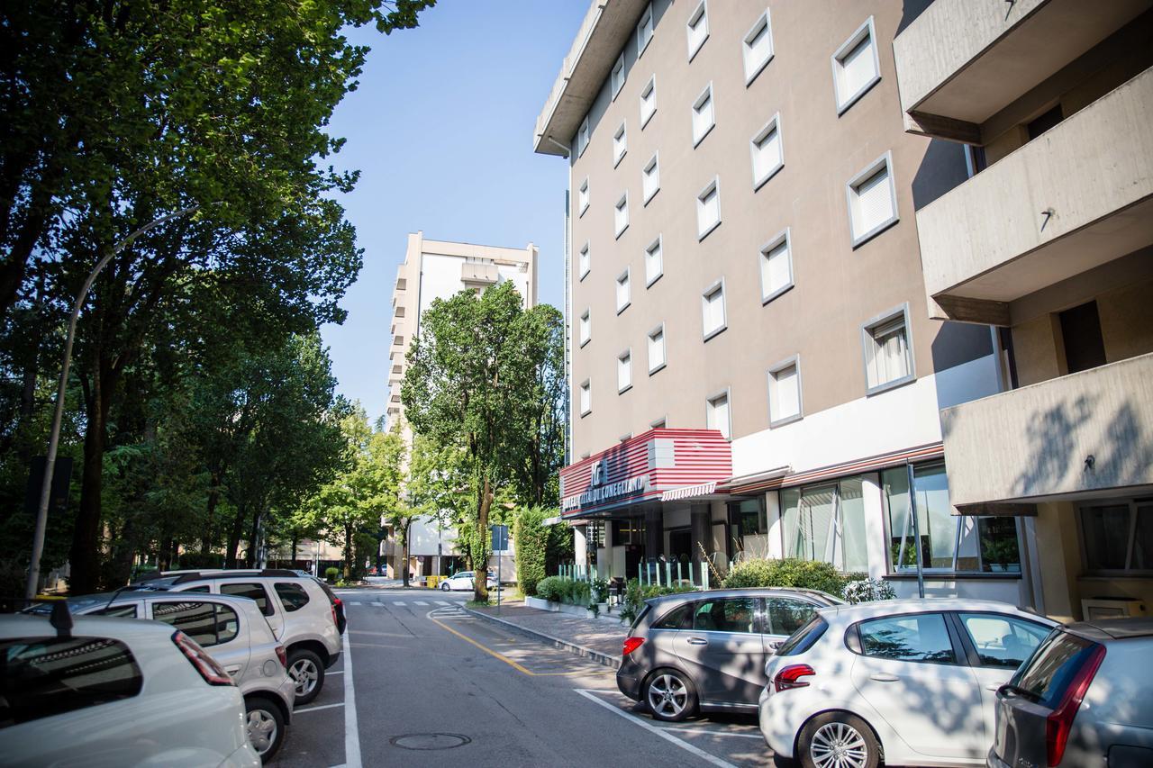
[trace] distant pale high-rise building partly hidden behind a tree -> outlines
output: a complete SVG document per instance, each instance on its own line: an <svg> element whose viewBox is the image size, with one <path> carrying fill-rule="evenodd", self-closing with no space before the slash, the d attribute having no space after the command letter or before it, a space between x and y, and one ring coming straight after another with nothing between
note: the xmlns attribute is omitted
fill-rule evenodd
<svg viewBox="0 0 1153 768"><path fill-rule="evenodd" d="M449 299L461 291L484 288L512 281L523 298L525 308L536 304L537 248L474 246L464 242L427 240L423 232L408 235L404 263L397 268L397 283L392 292L392 329L389 349L389 404L385 411L390 427L400 424L405 442L412 446L413 434L405 421L400 387L405 381L408 348L420 334L421 316L437 299ZM449 558L458 556L457 532L435 520L419 518L408 533L409 569L416 574L445 574ZM382 555L389 559L395 575L402 557L395 535L382 543ZM511 552L504 570L514 573ZM496 562L492 563L496 567Z"/></svg>

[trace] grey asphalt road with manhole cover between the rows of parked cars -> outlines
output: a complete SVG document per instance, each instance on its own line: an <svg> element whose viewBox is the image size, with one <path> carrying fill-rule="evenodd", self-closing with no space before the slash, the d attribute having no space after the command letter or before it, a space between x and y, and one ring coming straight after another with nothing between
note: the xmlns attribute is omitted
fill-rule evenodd
<svg viewBox="0 0 1153 768"><path fill-rule="evenodd" d="M611 669L467 615L465 595L339 594L346 657L274 768L771 765L754 717L656 723Z"/></svg>

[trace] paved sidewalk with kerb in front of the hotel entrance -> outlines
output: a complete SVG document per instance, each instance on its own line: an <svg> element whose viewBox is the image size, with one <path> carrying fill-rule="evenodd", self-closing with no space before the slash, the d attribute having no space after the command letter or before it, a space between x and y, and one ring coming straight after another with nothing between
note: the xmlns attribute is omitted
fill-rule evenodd
<svg viewBox="0 0 1153 768"><path fill-rule="evenodd" d="M499 613L496 605L465 610L605 667L620 667L620 646L628 626L619 623L616 616L611 619L581 618L526 608L521 601L504 603Z"/></svg>

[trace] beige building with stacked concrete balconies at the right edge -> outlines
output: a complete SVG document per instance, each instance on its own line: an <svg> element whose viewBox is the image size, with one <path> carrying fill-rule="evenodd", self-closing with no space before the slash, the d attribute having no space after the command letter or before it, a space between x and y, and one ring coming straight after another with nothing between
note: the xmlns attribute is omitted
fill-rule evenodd
<svg viewBox="0 0 1153 768"><path fill-rule="evenodd" d="M1011 386L942 411L951 500L1018 515L1045 612L1153 608L1153 2L936 0L894 52L977 171L917 211L928 315Z"/></svg>

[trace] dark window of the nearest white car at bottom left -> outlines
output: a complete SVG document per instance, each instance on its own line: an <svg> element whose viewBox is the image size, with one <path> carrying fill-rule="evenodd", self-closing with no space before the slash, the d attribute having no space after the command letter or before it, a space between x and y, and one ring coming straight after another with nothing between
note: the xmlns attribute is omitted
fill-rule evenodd
<svg viewBox="0 0 1153 768"><path fill-rule="evenodd" d="M0 641L0 729L130 699L144 678L128 646L111 638Z"/></svg>

